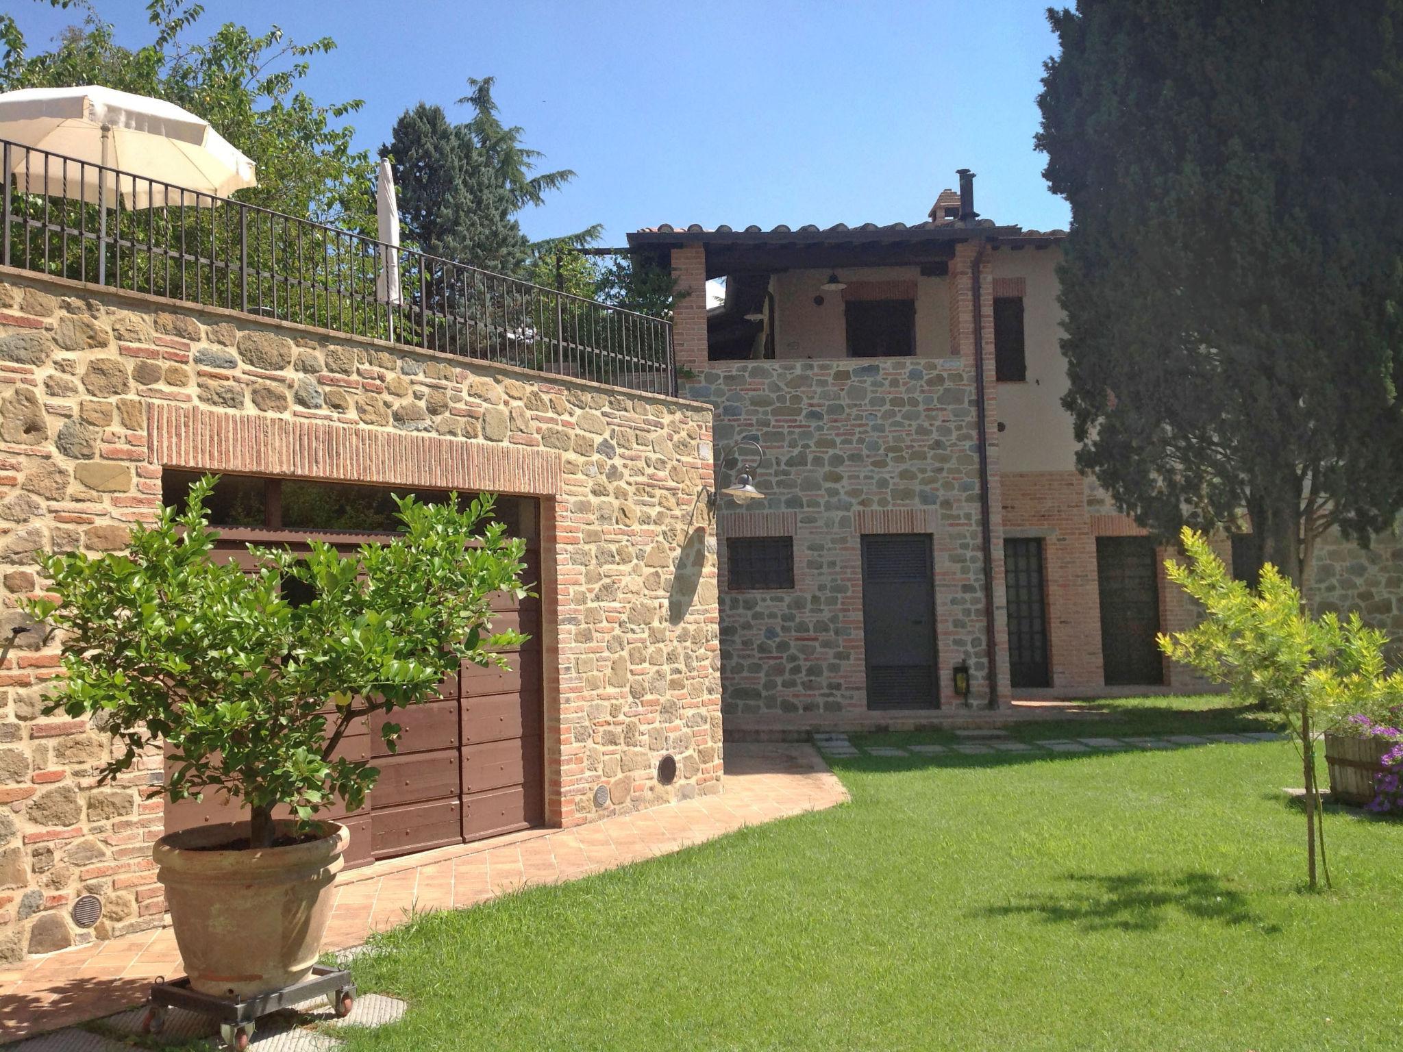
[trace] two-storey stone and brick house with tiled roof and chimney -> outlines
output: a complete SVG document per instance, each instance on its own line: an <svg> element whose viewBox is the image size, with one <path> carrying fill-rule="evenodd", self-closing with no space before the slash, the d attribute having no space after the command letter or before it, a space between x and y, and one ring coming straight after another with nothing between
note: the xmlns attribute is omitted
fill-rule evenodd
<svg viewBox="0 0 1403 1052"><path fill-rule="evenodd" d="M1194 616L1169 550L1076 471L1063 238L978 219L968 182L912 226L630 234L686 293L678 366L717 411L720 484L735 443L765 450L766 499L717 515L727 714L1207 686L1155 647ZM1313 574L1320 609L1403 637L1397 536L1324 543Z"/></svg>

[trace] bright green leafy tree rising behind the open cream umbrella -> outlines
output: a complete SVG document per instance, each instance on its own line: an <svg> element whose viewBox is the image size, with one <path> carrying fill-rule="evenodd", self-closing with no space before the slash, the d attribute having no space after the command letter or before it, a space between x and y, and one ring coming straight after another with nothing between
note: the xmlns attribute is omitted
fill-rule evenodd
<svg viewBox="0 0 1403 1052"><path fill-rule="evenodd" d="M140 48L114 41L112 24L91 4L52 0L86 11L53 50L31 55L14 17L0 14L0 90L101 84L163 98L215 126L258 166L258 187L236 198L293 216L373 229L373 161L352 149L344 119L362 100L323 105L302 83L311 62L335 49L330 36L288 39L281 28L254 32L226 22L208 39L191 39L203 4L150 0L153 39Z"/></svg>

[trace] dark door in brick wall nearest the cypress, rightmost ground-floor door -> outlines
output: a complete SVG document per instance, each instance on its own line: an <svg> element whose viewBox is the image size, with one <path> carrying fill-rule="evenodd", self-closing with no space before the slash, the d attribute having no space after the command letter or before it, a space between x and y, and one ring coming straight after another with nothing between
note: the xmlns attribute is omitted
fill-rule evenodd
<svg viewBox="0 0 1403 1052"><path fill-rule="evenodd" d="M1107 686L1164 682L1159 634L1159 567L1149 537L1097 537L1101 659Z"/></svg>

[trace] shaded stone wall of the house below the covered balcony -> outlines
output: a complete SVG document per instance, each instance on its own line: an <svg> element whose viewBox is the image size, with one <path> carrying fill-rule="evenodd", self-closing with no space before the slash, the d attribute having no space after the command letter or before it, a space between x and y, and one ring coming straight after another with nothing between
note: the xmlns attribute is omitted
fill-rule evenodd
<svg viewBox="0 0 1403 1052"><path fill-rule="evenodd" d="M723 584L725 711L866 708L861 533L933 536L943 701L961 659L972 699L988 697L972 369L958 358L710 362L686 394L717 407L718 454L742 438L766 453L765 502L718 506L721 581L725 537L794 537L794 591Z"/></svg>

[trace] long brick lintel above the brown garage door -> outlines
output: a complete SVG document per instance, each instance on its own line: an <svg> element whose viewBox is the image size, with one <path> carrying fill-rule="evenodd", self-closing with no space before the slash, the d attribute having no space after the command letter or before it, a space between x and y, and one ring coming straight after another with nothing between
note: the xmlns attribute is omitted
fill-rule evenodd
<svg viewBox="0 0 1403 1052"><path fill-rule="evenodd" d="M147 460L163 467L554 497L560 453L328 421L147 403Z"/></svg>

